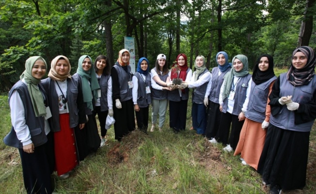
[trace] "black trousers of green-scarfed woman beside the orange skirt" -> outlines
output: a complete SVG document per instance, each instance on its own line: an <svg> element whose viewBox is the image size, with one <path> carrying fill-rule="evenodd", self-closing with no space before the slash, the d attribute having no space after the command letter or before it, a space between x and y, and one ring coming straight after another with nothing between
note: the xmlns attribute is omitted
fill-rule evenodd
<svg viewBox="0 0 316 194"><path fill-rule="evenodd" d="M234 115L231 113L221 113L221 123L218 131L217 140L221 142L223 145L227 143L235 150L239 141L240 131L244 124L245 120L239 121L238 115ZM232 125L232 131L229 136L229 129ZM229 140L228 140L229 136ZM228 142L227 142L228 141Z"/></svg>

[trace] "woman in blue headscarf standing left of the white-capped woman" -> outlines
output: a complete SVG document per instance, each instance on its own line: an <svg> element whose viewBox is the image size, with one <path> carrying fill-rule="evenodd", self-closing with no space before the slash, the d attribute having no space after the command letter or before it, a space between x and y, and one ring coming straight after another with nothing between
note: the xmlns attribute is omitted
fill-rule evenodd
<svg viewBox="0 0 316 194"><path fill-rule="evenodd" d="M137 72L133 76L133 102L137 127L147 133L149 104L151 104L151 76L148 59L142 57L137 64Z"/></svg>

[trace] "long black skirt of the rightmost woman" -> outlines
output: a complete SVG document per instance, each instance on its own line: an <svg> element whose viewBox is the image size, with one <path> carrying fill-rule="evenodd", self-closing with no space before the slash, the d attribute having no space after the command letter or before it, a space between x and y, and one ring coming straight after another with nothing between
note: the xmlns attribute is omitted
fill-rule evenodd
<svg viewBox="0 0 316 194"><path fill-rule="evenodd" d="M310 132L285 130L269 125L258 164L258 173L271 186L284 190L301 189L306 184Z"/></svg>

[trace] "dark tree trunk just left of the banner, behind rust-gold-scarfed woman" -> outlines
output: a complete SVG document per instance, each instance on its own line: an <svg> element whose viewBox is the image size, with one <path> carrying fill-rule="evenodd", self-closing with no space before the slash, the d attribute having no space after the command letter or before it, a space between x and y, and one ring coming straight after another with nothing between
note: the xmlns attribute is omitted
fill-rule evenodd
<svg viewBox="0 0 316 194"><path fill-rule="evenodd" d="M111 0L106 1L106 5L111 7ZM112 25L111 25L111 19L106 19L104 21L104 35L105 35L105 43L106 43L106 51L107 51L107 57L109 59L109 65L111 67L114 65L114 51L113 51L113 42L112 42Z"/></svg>

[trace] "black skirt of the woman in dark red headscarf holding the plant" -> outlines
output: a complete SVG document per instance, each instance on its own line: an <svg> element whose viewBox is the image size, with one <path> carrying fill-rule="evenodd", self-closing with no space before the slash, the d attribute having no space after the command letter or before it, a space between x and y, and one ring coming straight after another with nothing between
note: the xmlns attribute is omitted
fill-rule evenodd
<svg viewBox="0 0 316 194"><path fill-rule="evenodd" d="M169 100L170 128L175 131L185 130L187 123L188 100L179 102Z"/></svg>

